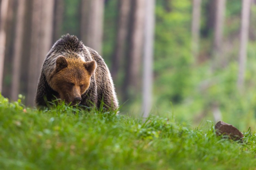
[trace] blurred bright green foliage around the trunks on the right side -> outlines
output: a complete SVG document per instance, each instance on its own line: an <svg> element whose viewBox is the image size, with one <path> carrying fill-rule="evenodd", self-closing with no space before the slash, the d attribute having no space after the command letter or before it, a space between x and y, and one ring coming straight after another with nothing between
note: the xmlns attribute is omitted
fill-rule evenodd
<svg viewBox="0 0 256 170"><path fill-rule="evenodd" d="M218 56L224 64L216 70L212 68L213 30L201 35L199 56L193 58L191 1L169 2L170 11L164 1L158 0L156 6L154 110L167 117L171 112L177 120L197 126L205 119L213 120L213 108L218 106L222 120L243 130L254 126L255 31L250 31L249 36L245 88L242 92L237 89L241 1L226 3L223 52ZM202 1L201 34L207 29L209 3ZM251 17L254 23L255 5ZM254 24L250 27L255 30Z"/></svg>

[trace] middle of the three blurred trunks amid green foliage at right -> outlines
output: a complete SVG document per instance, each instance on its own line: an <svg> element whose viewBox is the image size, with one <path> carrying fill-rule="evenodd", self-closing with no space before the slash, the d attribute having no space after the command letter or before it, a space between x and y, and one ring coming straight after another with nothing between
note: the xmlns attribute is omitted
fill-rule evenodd
<svg viewBox="0 0 256 170"><path fill-rule="evenodd" d="M223 45L223 26L225 19L226 0L216 0L216 17L214 26L213 44L213 70L223 64L222 45Z"/></svg>

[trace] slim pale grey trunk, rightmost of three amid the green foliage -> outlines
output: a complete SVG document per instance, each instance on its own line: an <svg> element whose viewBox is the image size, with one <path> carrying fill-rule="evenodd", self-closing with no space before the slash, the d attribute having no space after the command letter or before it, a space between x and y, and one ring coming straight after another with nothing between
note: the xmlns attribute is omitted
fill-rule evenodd
<svg viewBox="0 0 256 170"><path fill-rule="evenodd" d="M241 32L240 32L240 49L239 49L239 71L237 87L239 91L243 90L244 86L244 73L246 64L246 49L248 42L248 32L250 23L250 5L251 0L243 0L242 5L242 20L241 20Z"/></svg>

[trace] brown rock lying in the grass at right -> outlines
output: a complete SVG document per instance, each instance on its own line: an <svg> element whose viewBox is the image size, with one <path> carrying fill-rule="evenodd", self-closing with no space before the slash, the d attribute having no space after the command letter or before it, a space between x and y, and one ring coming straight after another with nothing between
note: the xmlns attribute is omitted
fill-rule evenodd
<svg viewBox="0 0 256 170"><path fill-rule="evenodd" d="M244 137L244 135L237 128L223 121L219 121L215 124L215 132L217 136L228 136L232 140L241 140Z"/></svg>

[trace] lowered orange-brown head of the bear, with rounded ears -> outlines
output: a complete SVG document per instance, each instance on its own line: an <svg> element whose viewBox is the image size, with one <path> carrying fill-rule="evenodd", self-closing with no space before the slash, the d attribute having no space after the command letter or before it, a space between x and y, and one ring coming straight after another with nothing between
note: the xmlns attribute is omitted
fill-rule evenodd
<svg viewBox="0 0 256 170"><path fill-rule="evenodd" d="M58 92L61 100L72 105L79 104L82 94L90 86L96 67L95 61L84 62L79 57L58 56L49 85Z"/></svg>

